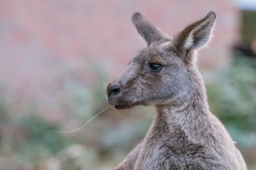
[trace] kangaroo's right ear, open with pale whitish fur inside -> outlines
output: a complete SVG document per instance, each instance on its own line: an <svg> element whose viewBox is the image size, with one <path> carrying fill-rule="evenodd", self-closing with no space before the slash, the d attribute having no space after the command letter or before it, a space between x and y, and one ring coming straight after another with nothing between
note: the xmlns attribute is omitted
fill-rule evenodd
<svg viewBox="0 0 256 170"><path fill-rule="evenodd" d="M174 36L174 44L180 54L188 53L203 47L211 36L216 14L210 11L202 20L187 26L178 35Z"/></svg>

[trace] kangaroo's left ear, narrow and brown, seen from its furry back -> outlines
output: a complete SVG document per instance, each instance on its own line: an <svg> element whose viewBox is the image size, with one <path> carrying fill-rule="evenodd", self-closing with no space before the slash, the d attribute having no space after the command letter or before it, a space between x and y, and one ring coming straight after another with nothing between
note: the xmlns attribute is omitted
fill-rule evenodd
<svg viewBox="0 0 256 170"><path fill-rule="evenodd" d="M142 38L146 40L148 46L150 46L152 42L157 42L164 38L165 33L146 20L139 12L133 14L132 22Z"/></svg>

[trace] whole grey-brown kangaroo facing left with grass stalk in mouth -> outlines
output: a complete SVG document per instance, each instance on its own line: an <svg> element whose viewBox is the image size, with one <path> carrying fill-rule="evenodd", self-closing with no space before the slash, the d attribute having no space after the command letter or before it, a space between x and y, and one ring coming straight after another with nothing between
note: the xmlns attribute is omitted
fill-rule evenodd
<svg viewBox="0 0 256 170"><path fill-rule="evenodd" d="M216 14L168 36L139 12L132 22L148 47L107 85L116 109L154 105L156 113L143 141L115 169L247 169L226 128L210 112L197 68L197 50L209 42Z"/></svg>

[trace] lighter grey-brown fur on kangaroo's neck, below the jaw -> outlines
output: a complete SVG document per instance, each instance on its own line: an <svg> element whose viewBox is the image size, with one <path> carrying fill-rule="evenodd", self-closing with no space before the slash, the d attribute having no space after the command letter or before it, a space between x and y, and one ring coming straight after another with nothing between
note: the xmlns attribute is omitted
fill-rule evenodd
<svg viewBox="0 0 256 170"><path fill-rule="evenodd" d="M168 105L156 105L156 108L154 124L158 124L157 121L164 121L170 131L180 129L193 143L204 144L211 134L209 127L214 126L212 122L218 121L210 112L204 85L198 85L186 97Z"/></svg>

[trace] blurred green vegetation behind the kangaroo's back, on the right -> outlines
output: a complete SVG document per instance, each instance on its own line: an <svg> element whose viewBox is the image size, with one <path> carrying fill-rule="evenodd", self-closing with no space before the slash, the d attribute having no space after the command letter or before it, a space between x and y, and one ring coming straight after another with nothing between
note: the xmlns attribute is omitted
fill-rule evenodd
<svg viewBox="0 0 256 170"><path fill-rule="evenodd" d="M203 74L211 111L256 169L256 60L236 51L231 66Z"/></svg>

